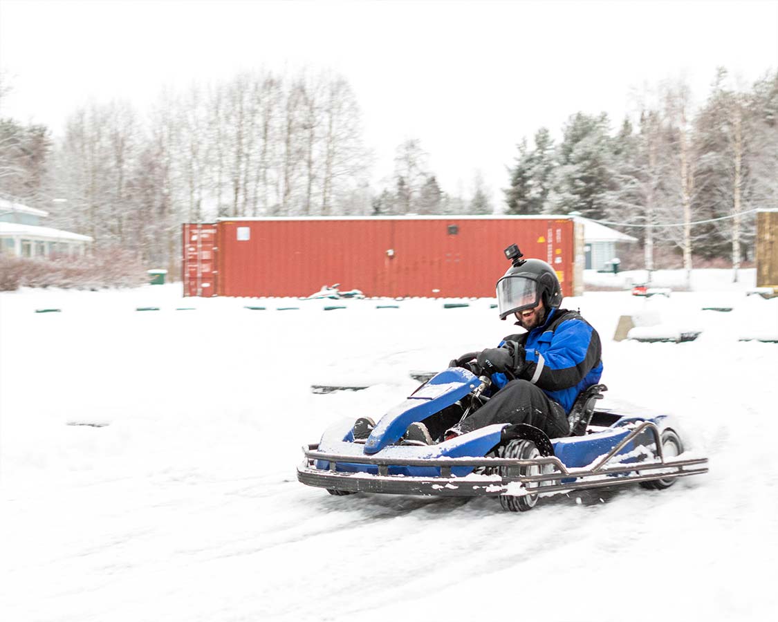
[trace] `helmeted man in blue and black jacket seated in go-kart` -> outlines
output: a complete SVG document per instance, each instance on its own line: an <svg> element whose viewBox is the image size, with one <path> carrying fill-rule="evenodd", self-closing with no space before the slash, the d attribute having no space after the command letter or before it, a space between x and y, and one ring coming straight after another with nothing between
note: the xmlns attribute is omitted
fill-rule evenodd
<svg viewBox="0 0 778 622"><path fill-rule="evenodd" d="M499 316L514 315L527 332L508 335L499 348L468 352L450 362L450 367L472 371L475 360L499 391L449 428L446 439L496 423L533 425L552 439L566 436L576 397L602 375L600 337L579 313L559 309L562 289L552 267L521 259L515 244L505 253L513 264L497 281ZM423 430L419 434L419 426L409 436L429 438Z"/></svg>

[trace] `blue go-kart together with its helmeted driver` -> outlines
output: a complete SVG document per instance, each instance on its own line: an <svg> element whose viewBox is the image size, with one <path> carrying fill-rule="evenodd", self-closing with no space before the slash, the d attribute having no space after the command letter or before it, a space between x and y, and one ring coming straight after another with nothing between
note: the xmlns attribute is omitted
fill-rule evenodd
<svg viewBox="0 0 778 622"><path fill-rule="evenodd" d="M607 387L597 331L560 309L552 267L506 249L499 316L527 331L468 352L379 421L334 421L303 447L297 478L342 496L356 492L499 498L525 512L546 494L638 483L662 490L706 473L685 456L672 418L598 409Z"/></svg>

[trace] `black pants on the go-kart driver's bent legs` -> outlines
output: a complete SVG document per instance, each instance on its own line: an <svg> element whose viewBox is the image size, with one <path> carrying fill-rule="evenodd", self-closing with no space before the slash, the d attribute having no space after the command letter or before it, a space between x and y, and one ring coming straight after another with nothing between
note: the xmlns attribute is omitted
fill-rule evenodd
<svg viewBox="0 0 778 622"><path fill-rule="evenodd" d="M565 409L527 380L511 380L456 429L466 434L496 423L534 425L550 439L570 433Z"/></svg>

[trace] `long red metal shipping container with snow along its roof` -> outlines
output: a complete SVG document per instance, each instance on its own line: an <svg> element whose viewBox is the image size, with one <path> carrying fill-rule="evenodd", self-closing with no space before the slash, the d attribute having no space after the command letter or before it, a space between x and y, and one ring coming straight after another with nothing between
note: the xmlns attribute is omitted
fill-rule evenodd
<svg viewBox="0 0 778 622"><path fill-rule="evenodd" d="M184 225L184 237L198 226L213 225ZM184 244L185 295L307 296L339 283L368 296L491 297L512 243L551 264L564 295L583 291L583 225L573 217L234 218L216 230L210 293L190 282L206 273Z"/></svg>

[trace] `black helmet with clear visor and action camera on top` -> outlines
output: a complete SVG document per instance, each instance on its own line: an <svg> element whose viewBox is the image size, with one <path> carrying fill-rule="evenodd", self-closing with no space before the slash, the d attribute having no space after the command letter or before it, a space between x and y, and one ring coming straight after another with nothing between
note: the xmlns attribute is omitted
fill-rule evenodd
<svg viewBox="0 0 778 622"><path fill-rule="evenodd" d="M505 254L513 265L497 281L499 319L505 320L511 313L532 309L541 300L546 309L559 309L562 288L554 269L539 259L521 259L515 244L506 248Z"/></svg>

